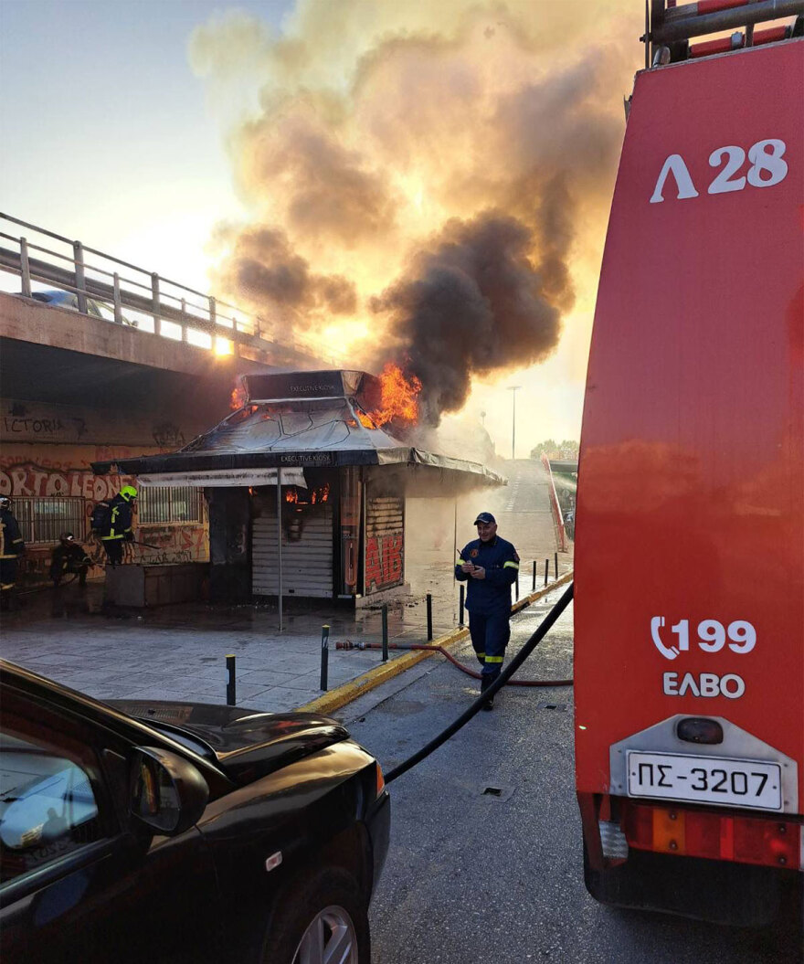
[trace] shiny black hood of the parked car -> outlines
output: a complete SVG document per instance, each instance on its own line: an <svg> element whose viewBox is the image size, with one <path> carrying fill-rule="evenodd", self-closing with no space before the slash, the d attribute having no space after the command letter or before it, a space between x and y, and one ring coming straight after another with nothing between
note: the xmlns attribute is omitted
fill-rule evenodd
<svg viewBox="0 0 804 964"><path fill-rule="evenodd" d="M116 710L160 727L198 736L222 770L237 783L249 783L348 739L335 720L315 713L263 713L208 703L162 700L107 700ZM165 733L165 730L160 730ZM170 734L168 734L170 736Z"/></svg>

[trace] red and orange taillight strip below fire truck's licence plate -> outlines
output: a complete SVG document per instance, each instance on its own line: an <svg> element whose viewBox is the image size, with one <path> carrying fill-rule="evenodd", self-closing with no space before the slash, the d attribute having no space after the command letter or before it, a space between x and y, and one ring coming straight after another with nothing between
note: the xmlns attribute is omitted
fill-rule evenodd
<svg viewBox="0 0 804 964"><path fill-rule="evenodd" d="M622 822L630 846L638 850L793 870L800 863L801 825L791 820L629 802Z"/></svg>

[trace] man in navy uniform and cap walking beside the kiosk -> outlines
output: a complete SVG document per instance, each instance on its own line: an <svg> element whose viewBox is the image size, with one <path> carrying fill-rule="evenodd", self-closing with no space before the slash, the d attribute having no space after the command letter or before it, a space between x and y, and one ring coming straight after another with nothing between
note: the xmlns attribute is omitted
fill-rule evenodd
<svg viewBox="0 0 804 964"><path fill-rule="evenodd" d="M491 512L481 512L474 524L478 538L461 549L455 578L469 581L469 635L483 667L480 692L484 693L502 671L505 647L511 638L511 586L520 570L520 557L511 543L496 534L496 519ZM492 699L483 709L493 706Z"/></svg>

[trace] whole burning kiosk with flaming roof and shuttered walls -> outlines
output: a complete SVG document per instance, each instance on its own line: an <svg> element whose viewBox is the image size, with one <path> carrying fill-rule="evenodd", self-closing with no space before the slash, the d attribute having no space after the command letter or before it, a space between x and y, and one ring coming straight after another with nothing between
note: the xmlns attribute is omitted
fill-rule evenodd
<svg viewBox="0 0 804 964"><path fill-rule="evenodd" d="M204 488L215 600L354 600L401 586L406 496L505 484L477 463L400 441L410 439L410 417L388 410L366 372L248 375L241 384L236 410L184 448L115 464L140 485Z"/></svg>

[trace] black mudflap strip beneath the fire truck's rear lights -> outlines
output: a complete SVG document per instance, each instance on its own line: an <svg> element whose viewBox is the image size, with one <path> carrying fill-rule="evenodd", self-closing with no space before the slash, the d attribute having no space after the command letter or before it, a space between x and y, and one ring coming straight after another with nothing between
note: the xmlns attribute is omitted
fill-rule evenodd
<svg viewBox="0 0 804 964"><path fill-rule="evenodd" d="M781 876L771 867L634 849L625 863L595 869L583 844L583 880L600 903L711 924L771 924L779 911Z"/></svg>

